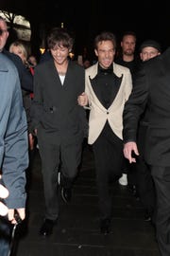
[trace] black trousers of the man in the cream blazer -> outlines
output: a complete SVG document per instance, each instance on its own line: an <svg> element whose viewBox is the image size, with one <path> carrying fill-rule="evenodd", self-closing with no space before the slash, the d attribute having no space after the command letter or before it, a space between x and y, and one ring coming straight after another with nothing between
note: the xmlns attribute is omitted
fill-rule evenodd
<svg viewBox="0 0 170 256"><path fill-rule="evenodd" d="M96 185L101 219L111 217L110 181L122 174L123 142L107 123L93 143Z"/></svg>

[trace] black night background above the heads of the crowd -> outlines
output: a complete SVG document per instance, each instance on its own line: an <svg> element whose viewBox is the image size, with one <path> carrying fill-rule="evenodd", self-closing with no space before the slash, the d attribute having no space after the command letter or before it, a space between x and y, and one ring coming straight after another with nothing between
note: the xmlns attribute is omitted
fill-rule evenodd
<svg viewBox="0 0 170 256"><path fill-rule="evenodd" d="M134 1L133 1L134 2ZM117 36L126 30L137 34L137 48L145 39L160 42L162 50L170 46L170 15L168 3L161 1L64 1L64 0L1 0L0 9L24 15L31 25L31 46L36 52L50 27L63 23L75 37L75 53L90 59L94 36L110 30Z"/></svg>

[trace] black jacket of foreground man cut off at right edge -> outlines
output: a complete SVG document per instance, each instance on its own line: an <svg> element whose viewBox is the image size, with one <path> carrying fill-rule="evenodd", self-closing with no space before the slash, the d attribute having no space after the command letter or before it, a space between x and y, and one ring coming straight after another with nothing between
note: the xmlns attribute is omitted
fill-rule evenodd
<svg viewBox="0 0 170 256"><path fill-rule="evenodd" d="M138 121L148 108L145 159L170 166L170 47L138 72L124 109L124 142L136 141Z"/></svg>

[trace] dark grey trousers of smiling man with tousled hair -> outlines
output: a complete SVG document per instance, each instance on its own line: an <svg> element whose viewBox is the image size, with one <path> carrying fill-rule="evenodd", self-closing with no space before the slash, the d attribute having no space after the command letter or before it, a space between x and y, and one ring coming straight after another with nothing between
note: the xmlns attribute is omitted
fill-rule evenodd
<svg viewBox="0 0 170 256"><path fill-rule="evenodd" d="M82 141L67 145L38 137L42 160L45 218L56 220L59 217L58 173L62 175L62 186L71 188L81 161ZM61 169L59 170L59 166Z"/></svg>

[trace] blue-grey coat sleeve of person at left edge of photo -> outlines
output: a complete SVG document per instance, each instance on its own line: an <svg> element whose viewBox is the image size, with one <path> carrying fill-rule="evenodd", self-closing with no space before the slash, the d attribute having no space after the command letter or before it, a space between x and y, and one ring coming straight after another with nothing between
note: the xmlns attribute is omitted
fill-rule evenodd
<svg viewBox="0 0 170 256"><path fill-rule="evenodd" d="M15 73L15 75L17 72ZM16 81L1 86L0 160L3 183L9 195L8 208L26 207L26 168L28 166L26 112L23 107L18 75ZM2 83L0 83L2 85ZM14 84L14 86L12 85ZM4 85L4 84L3 84Z"/></svg>

